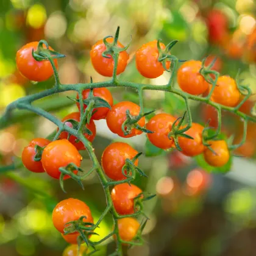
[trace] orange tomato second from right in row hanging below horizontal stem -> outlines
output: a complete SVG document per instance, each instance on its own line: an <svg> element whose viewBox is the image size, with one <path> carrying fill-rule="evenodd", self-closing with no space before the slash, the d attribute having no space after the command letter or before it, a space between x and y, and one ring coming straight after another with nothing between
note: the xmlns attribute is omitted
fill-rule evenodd
<svg viewBox="0 0 256 256"><path fill-rule="evenodd" d="M191 128L185 132L185 134L190 135L194 138L191 140L185 137L179 137L179 145L182 148L182 153L188 157L194 157L196 155L202 154L205 150L205 146L202 144L202 131L204 127L201 124L193 123Z"/></svg>

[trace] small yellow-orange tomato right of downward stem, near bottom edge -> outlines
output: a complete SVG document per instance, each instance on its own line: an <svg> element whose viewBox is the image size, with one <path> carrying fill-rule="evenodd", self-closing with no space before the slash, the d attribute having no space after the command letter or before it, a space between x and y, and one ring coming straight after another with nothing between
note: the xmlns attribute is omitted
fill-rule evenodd
<svg viewBox="0 0 256 256"><path fill-rule="evenodd" d="M121 240L129 242L137 235L140 228L140 222L135 218L122 218L118 219L118 230ZM114 235L115 238L115 235Z"/></svg>

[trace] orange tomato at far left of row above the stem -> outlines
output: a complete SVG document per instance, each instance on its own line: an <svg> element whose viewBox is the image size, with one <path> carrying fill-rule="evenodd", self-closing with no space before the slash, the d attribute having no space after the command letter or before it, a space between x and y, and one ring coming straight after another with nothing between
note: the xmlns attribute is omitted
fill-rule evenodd
<svg viewBox="0 0 256 256"><path fill-rule="evenodd" d="M29 80L41 82L49 79L54 72L49 60L38 62L32 56L32 49L37 50L38 42L32 42L24 45L16 53L16 65L20 73ZM46 46L43 46L46 48ZM51 47L49 47L52 50ZM55 66L58 67L57 59L54 59Z"/></svg>

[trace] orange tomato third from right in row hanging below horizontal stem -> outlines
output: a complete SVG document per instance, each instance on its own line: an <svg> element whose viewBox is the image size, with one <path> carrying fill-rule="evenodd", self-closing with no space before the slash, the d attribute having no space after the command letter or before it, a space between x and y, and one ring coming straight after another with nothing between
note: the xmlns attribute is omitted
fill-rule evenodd
<svg viewBox="0 0 256 256"><path fill-rule="evenodd" d="M171 132L172 124L176 118L169 114L157 114L153 116L149 123L146 124L148 130L154 133L147 133L149 141L161 149L169 149L174 146L173 139L168 138L168 133Z"/></svg>

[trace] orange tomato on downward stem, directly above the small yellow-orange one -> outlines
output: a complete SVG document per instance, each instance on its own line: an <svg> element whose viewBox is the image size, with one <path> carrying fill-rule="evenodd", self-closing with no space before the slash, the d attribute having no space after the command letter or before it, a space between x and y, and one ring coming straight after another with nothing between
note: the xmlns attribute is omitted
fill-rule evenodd
<svg viewBox="0 0 256 256"><path fill-rule="evenodd" d="M120 215L134 213L134 197L142 193L141 189L129 183L121 183L116 185L111 191L111 198Z"/></svg>

